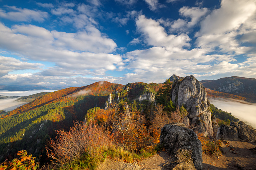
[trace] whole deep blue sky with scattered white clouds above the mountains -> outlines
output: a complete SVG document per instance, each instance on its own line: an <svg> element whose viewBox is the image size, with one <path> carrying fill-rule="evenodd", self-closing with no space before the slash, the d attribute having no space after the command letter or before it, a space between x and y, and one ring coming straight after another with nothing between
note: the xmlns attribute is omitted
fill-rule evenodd
<svg viewBox="0 0 256 170"><path fill-rule="evenodd" d="M0 84L256 78L256 0L0 0Z"/></svg>

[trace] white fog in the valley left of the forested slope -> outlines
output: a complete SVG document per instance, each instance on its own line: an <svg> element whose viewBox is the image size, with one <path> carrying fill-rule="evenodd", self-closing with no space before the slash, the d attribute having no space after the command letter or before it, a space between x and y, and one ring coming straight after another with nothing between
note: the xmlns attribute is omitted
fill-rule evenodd
<svg viewBox="0 0 256 170"><path fill-rule="evenodd" d="M53 92L56 90L31 90L31 91L7 91L7 90L0 90L0 95L3 96L29 96L36 93L41 92ZM16 101L18 98L14 99L0 99L0 110L11 111L20 107L26 103Z"/></svg>

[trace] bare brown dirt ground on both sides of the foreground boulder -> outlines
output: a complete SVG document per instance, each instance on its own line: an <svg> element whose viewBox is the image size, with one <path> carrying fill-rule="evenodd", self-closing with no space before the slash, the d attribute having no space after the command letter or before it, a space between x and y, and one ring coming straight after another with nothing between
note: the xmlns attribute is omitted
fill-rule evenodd
<svg viewBox="0 0 256 170"><path fill-rule="evenodd" d="M222 156L210 156L203 153L204 169L244 169L256 170L256 152L249 150L256 146L255 142L227 141L222 143ZM123 161L107 159L97 170L139 170L139 169L165 169L163 165L168 162L168 154L159 152L152 157L139 162L126 163Z"/></svg>

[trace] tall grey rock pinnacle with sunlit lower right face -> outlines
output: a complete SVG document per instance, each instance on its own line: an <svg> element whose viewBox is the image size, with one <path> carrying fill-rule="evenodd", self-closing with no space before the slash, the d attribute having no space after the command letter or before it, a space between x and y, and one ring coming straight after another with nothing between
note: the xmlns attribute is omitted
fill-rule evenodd
<svg viewBox="0 0 256 170"><path fill-rule="evenodd" d="M192 75L175 80L171 90L173 103L178 107L184 105L195 130L205 136L213 136L211 112L208 110L210 103L206 95L205 87Z"/></svg>

